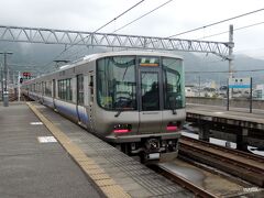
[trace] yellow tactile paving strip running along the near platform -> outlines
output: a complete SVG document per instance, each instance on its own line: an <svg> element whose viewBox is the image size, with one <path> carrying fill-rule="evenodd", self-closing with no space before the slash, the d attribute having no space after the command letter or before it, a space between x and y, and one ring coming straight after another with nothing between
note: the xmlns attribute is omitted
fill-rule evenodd
<svg viewBox="0 0 264 198"><path fill-rule="evenodd" d="M116 182L110 178L110 176L106 174L106 172L100 168L92 158L88 157L76 144L70 141L67 135L47 120L31 102L26 103L107 197L131 197L121 186L117 185Z"/></svg>

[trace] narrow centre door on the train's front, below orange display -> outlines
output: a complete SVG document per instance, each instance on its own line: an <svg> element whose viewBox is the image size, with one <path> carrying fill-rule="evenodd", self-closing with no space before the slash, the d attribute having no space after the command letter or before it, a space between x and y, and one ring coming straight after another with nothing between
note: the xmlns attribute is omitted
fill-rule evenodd
<svg viewBox="0 0 264 198"><path fill-rule="evenodd" d="M154 63L139 65L140 133L157 133L162 127L162 73Z"/></svg>

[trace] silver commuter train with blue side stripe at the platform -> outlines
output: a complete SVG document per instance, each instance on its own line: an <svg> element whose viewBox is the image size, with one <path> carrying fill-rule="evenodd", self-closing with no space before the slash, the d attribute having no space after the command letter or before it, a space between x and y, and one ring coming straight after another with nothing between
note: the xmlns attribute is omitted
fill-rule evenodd
<svg viewBox="0 0 264 198"><path fill-rule="evenodd" d="M123 51L86 56L22 90L123 152L160 160L177 155L184 81L180 57Z"/></svg>

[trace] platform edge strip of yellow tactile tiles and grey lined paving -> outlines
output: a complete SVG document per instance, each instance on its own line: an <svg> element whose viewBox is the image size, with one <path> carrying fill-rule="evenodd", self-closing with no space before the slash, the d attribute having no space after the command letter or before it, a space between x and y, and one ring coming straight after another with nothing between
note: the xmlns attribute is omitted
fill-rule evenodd
<svg viewBox="0 0 264 198"><path fill-rule="evenodd" d="M107 197L194 197L52 109L34 107L57 128L53 134Z"/></svg>

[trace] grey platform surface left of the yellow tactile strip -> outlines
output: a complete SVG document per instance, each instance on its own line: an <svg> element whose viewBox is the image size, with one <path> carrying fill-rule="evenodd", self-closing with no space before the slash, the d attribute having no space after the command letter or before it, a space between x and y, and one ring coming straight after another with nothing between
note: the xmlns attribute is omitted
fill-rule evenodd
<svg viewBox="0 0 264 198"><path fill-rule="evenodd" d="M103 197L62 145L45 136L51 132L25 103L0 107L0 197Z"/></svg>

